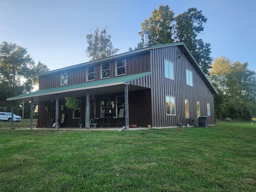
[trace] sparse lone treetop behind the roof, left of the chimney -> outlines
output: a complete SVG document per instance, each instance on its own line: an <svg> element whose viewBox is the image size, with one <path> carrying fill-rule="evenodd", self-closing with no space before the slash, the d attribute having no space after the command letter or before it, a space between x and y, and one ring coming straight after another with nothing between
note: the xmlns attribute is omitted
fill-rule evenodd
<svg viewBox="0 0 256 192"><path fill-rule="evenodd" d="M116 55L119 51L119 49L112 46L111 36L107 35L106 28L100 34L99 28L97 28L94 34L88 34L86 38L88 47L85 52L90 61Z"/></svg>

